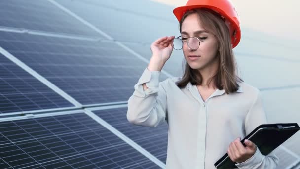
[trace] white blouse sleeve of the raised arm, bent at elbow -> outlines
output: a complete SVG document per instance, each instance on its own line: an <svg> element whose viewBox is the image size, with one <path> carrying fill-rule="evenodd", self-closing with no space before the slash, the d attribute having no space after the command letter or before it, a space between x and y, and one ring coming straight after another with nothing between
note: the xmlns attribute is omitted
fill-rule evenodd
<svg viewBox="0 0 300 169"><path fill-rule="evenodd" d="M167 97L163 82L159 83L159 76L159 71L146 68L135 84L135 90L128 100L127 119L130 123L156 127L165 122ZM148 87L145 91L142 86L144 83Z"/></svg>

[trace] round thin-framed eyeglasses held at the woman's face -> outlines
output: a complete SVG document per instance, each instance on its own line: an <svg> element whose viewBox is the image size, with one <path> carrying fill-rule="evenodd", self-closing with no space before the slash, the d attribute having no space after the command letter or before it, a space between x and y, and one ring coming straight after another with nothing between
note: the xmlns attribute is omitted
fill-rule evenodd
<svg viewBox="0 0 300 169"><path fill-rule="evenodd" d="M189 38L180 38L181 36L174 38L173 40L173 48L175 50L181 50L184 43L188 43L188 47L197 50L200 46L200 42L203 42L207 39L207 37L189 37Z"/></svg>

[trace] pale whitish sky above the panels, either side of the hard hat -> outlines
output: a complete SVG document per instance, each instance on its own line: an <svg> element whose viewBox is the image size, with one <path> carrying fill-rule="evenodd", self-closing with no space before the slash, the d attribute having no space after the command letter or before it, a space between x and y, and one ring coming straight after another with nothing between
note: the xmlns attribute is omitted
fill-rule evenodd
<svg viewBox="0 0 300 169"><path fill-rule="evenodd" d="M153 0L174 7L187 0ZM285 39L300 39L300 0L231 0L241 20L241 27Z"/></svg>

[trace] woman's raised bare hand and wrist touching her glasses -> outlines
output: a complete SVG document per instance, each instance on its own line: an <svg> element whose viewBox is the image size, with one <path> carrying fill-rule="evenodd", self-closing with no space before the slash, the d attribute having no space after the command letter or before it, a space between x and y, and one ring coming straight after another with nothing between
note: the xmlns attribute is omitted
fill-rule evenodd
<svg viewBox="0 0 300 169"><path fill-rule="evenodd" d="M166 61L170 58L173 51L173 43L175 36L162 37L154 41L150 49L152 51L152 57L148 65L150 71L161 71Z"/></svg>

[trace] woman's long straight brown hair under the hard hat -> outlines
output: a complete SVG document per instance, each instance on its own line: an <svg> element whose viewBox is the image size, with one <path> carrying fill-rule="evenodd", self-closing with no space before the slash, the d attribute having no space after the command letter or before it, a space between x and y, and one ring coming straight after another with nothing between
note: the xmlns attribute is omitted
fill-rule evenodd
<svg viewBox="0 0 300 169"><path fill-rule="evenodd" d="M219 67L217 73L209 79L208 85L214 80L214 86L220 90L224 89L227 94L236 91L239 88L238 82L242 82L243 80L237 76L237 64L231 47L229 29L224 19L221 15L210 9L201 8L190 10L184 14L179 23L180 32L184 19L192 13L198 15L203 28L214 34L218 41L217 47L219 48L219 52L217 53L217 59L219 61ZM182 79L177 82L179 88L185 87L189 82L193 85L202 84L200 72L192 69L185 59L183 62L183 71L184 75Z"/></svg>

